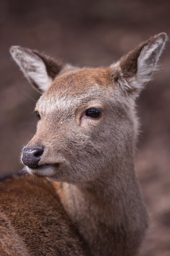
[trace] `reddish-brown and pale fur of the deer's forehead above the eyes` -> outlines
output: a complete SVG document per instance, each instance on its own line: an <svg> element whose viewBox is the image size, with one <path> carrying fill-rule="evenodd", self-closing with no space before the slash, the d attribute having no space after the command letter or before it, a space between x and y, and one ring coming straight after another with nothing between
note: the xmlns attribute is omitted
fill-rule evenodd
<svg viewBox="0 0 170 256"><path fill-rule="evenodd" d="M58 75L48 90L42 94L36 108L43 113L56 109L81 108L98 105L108 95L104 91L113 91L113 68L83 68L67 71ZM110 88L111 90L107 90ZM107 101L109 97L107 97ZM46 102L44 104L44 101Z"/></svg>

